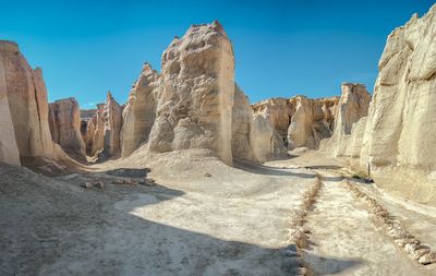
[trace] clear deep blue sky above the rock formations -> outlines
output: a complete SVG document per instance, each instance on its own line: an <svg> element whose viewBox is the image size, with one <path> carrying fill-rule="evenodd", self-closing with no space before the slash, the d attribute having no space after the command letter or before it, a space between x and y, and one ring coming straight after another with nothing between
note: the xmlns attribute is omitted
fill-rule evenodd
<svg viewBox="0 0 436 276"><path fill-rule="evenodd" d="M74 96L93 108L110 89L125 103L145 61L160 71L172 38L215 19L232 40L237 82L251 103L371 92L388 34L435 1L4 1L0 39L41 67L49 100Z"/></svg>

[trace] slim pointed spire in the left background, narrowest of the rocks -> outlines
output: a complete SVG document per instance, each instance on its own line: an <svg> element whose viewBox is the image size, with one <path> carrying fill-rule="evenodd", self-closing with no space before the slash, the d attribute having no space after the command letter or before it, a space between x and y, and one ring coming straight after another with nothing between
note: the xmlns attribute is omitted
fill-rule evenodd
<svg viewBox="0 0 436 276"><path fill-rule="evenodd" d="M104 153L107 156L117 156L121 153L120 133L122 128L122 111L123 108L113 99L111 93L108 92L104 110Z"/></svg>

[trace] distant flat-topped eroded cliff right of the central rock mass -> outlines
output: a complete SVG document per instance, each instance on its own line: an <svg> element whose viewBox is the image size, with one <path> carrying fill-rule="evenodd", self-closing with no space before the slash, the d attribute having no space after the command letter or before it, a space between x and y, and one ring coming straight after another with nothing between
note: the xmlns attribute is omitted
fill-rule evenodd
<svg viewBox="0 0 436 276"><path fill-rule="evenodd" d="M254 113L268 120L277 139L290 149L317 148L323 139L330 137L339 98L311 99L295 96L290 99L271 98L253 105Z"/></svg>

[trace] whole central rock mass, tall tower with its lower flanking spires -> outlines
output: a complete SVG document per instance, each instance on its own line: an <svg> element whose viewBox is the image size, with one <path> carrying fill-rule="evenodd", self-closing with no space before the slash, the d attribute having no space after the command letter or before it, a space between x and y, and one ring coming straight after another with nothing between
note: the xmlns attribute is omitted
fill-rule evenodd
<svg viewBox="0 0 436 276"><path fill-rule="evenodd" d="M233 49L222 26L191 26L164 52L161 74L146 63L133 85L122 156L140 146L152 153L205 148L229 165L233 157L257 163L286 155L280 135L269 121L253 118L233 77Z"/></svg>

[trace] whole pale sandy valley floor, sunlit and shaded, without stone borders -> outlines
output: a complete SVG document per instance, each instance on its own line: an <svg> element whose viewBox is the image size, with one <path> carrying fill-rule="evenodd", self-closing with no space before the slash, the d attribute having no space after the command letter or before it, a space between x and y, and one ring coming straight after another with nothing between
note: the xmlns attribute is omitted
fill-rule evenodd
<svg viewBox="0 0 436 276"><path fill-rule="evenodd" d="M303 252L316 275L435 275L384 233L342 179L432 249L436 209L386 195L338 160L310 153L232 168L201 154L132 161L140 157L50 178L1 165L0 275L294 275L290 214L316 175L323 185ZM95 181L105 188L82 187Z"/></svg>

